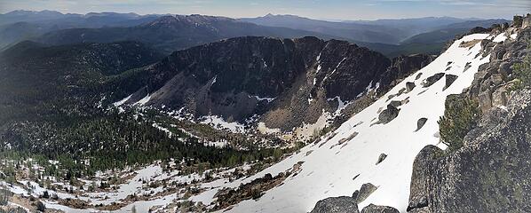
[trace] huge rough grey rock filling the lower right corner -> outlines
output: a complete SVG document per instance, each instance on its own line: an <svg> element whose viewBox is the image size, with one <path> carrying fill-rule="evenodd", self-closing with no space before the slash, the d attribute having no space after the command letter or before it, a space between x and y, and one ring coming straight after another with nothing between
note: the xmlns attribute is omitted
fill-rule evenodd
<svg viewBox="0 0 531 213"><path fill-rule="evenodd" d="M432 146L421 151L414 162L408 210L527 212L531 209L528 138L531 91L517 91L507 111L488 111L456 152L440 155Z"/></svg>

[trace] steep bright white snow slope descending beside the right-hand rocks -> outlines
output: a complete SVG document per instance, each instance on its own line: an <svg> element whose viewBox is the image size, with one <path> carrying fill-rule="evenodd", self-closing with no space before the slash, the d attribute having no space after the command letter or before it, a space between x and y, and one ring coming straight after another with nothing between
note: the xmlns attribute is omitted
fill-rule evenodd
<svg viewBox="0 0 531 213"><path fill-rule="evenodd" d="M471 85L479 65L489 60L488 56L483 58L479 54L479 40L492 37L477 34L457 40L432 64L406 78L382 99L354 115L328 135L333 136L332 138L327 139L325 136L321 141L305 146L299 153L253 177L224 185L237 187L241 183L263 177L266 173L275 176L291 169L297 162L304 162L302 170L297 175L286 178L283 185L267 191L257 201L242 201L230 209L230 212L308 212L317 201L327 197L350 196L365 183L371 183L378 188L367 200L361 202L360 209L374 203L392 206L405 212L415 156L426 145L444 148L438 138L437 121L444 114L445 99L449 94L461 93ZM472 42L474 40L477 42ZM472 45L460 47L463 42L471 42ZM438 73L458 77L444 91L445 77L429 87L424 88L421 85L426 78ZM420 77L416 79L418 75ZM388 100L390 95L406 88L408 82L416 83L416 87ZM398 107L398 117L387 124L374 124L378 120L379 112L392 100L404 99L408 99L408 103ZM420 118L427 118L427 122L421 130L415 131ZM344 138L349 139L339 145L340 140ZM376 165L380 154L387 154L387 158Z"/></svg>

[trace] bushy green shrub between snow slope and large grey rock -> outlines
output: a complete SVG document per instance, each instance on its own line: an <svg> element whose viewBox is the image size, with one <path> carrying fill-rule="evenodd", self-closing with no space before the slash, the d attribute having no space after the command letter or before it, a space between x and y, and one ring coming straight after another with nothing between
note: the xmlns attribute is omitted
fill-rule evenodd
<svg viewBox="0 0 531 213"><path fill-rule="evenodd" d="M456 151L463 146L464 136L476 125L479 119L478 101L463 95L450 95L446 100L445 112L439 120L440 140L448 146L448 151Z"/></svg>

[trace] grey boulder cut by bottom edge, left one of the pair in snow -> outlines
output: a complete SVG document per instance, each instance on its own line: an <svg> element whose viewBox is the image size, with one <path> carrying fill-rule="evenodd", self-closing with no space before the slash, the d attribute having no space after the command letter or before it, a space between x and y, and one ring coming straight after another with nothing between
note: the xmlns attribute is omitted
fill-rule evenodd
<svg viewBox="0 0 531 213"><path fill-rule="evenodd" d="M358 203L353 197L330 197L318 201L311 213L358 213Z"/></svg>

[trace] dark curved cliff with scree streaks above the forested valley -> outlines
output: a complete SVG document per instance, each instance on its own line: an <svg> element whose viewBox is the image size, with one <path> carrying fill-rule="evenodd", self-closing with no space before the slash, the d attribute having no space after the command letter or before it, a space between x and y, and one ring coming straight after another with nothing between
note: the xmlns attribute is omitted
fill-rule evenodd
<svg viewBox="0 0 531 213"><path fill-rule="evenodd" d="M184 107L228 122L265 114L268 127L290 130L374 87L390 63L337 40L239 37L176 51L147 67L147 85L127 103L149 94L148 106Z"/></svg>

